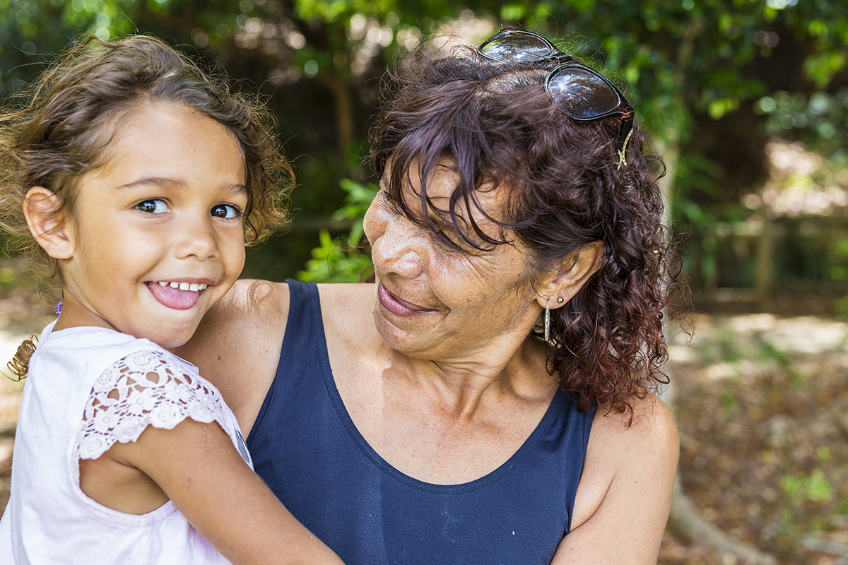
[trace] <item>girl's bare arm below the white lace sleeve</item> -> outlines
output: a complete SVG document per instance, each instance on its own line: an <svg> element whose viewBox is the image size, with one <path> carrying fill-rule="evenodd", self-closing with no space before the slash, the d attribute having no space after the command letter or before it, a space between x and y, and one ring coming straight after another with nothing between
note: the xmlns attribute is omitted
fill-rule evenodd
<svg viewBox="0 0 848 565"><path fill-rule="evenodd" d="M342 563L289 513L254 474L220 425L183 420L148 426L103 457L137 468L165 491L187 520L236 565Z"/></svg>

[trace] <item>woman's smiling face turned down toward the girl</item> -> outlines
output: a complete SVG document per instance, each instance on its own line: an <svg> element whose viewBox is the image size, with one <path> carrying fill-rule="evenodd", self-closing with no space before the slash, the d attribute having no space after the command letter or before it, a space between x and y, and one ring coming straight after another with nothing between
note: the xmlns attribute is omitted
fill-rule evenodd
<svg viewBox="0 0 848 565"><path fill-rule="evenodd" d="M427 193L438 208L448 208L455 182L455 173L444 167L433 176ZM404 186L413 210L420 202L417 188ZM481 191L477 198L488 215L500 217L502 192ZM488 235L502 235L480 210L458 206L456 211L464 219L471 214ZM374 319L394 349L412 357L459 360L485 355L490 347L514 351L538 319L541 307L526 283L527 262L519 246L490 251L445 246L432 231L398 213L385 190L365 214L365 235L377 274Z"/></svg>

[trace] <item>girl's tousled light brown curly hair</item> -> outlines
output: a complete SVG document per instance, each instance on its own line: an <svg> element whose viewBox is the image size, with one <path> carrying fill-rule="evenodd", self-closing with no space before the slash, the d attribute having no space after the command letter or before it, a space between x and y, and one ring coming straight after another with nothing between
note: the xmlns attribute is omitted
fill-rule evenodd
<svg viewBox="0 0 848 565"><path fill-rule="evenodd" d="M32 237L22 203L33 186L59 197L59 222L74 213L81 177L109 161L109 141L139 104L178 103L215 119L236 136L244 158L248 205L245 243L261 241L288 221L291 166L276 147L274 119L258 97L233 91L226 76L201 69L151 36L103 42L87 36L42 73L0 114L0 228L21 252L42 291L62 285L59 262ZM24 376L32 343L9 367Z"/></svg>

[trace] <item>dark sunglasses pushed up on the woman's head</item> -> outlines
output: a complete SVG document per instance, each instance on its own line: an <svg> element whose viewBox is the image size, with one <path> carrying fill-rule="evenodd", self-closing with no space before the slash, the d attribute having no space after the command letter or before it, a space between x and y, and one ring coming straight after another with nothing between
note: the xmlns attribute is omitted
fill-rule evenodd
<svg viewBox="0 0 848 565"><path fill-rule="evenodd" d="M532 31L500 30L477 47L477 52L493 61L554 61L556 66L545 79L544 90L568 117L577 121L618 116L622 125L616 152L619 167L624 164L627 144L633 133L633 106L604 75L562 53L553 43Z"/></svg>

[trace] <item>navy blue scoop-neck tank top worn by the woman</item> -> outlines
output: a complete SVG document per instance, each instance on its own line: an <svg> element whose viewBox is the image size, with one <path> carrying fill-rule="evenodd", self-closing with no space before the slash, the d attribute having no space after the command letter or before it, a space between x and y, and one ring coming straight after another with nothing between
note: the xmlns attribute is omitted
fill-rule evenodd
<svg viewBox="0 0 848 565"><path fill-rule="evenodd" d="M515 455L463 485L400 473L354 426L327 357L315 285L289 280L280 364L248 435L256 472L347 565L550 562L571 526L594 408L557 391Z"/></svg>

